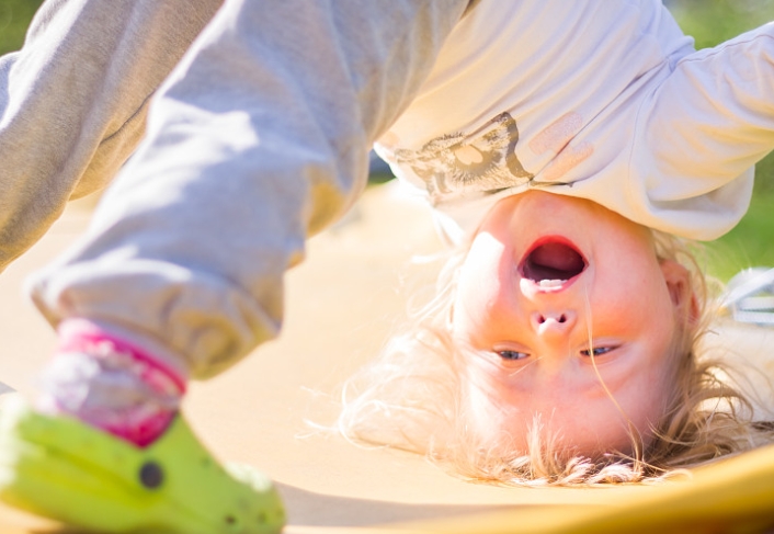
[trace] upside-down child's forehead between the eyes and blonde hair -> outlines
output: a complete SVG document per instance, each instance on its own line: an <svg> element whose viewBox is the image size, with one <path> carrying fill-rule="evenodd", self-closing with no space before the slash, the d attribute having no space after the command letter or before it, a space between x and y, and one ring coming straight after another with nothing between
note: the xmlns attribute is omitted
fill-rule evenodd
<svg viewBox="0 0 774 534"><path fill-rule="evenodd" d="M675 382L672 361L667 349L629 365L601 363L600 376L579 374L564 383L542 380L530 366L497 371L492 362L479 361L463 373L465 412L482 440L520 453L526 452L535 421L544 441L577 454L628 452L631 429L647 442L663 417Z"/></svg>

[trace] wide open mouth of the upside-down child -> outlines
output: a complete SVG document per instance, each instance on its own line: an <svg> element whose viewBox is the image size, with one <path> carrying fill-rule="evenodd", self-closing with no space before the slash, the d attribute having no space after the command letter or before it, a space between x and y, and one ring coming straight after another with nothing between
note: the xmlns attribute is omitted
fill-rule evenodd
<svg viewBox="0 0 774 534"><path fill-rule="evenodd" d="M523 277L542 287L558 287L585 268L585 260L573 246L551 239L533 248L522 260L519 271Z"/></svg>

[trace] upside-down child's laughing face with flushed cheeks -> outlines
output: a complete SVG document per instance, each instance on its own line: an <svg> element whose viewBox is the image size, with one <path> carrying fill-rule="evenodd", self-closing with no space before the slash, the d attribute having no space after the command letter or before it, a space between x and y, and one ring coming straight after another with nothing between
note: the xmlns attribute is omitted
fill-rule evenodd
<svg viewBox="0 0 774 534"><path fill-rule="evenodd" d="M500 201L463 264L453 311L455 341L473 349L463 362L469 424L520 451L534 414L579 454L629 452L626 418L647 441L664 410L685 276L658 261L650 231L593 202L545 192Z"/></svg>

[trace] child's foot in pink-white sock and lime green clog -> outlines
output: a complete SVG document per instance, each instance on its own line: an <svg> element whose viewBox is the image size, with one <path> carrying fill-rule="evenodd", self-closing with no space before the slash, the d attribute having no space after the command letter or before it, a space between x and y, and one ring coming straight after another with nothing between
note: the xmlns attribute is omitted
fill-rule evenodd
<svg viewBox="0 0 774 534"><path fill-rule="evenodd" d="M278 532L271 481L221 468L178 412L182 383L109 341L57 356L42 410L3 407L0 498L106 533Z"/></svg>

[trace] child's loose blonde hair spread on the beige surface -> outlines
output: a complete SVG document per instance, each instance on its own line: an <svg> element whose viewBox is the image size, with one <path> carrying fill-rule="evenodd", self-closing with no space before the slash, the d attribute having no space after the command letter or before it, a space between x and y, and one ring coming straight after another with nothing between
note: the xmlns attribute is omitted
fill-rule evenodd
<svg viewBox="0 0 774 534"><path fill-rule="evenodd" d="M488 443L469 430L460 394L464 349L452 342L449 326L466 249L449 254L434 297L410 313L408 328L346 382L338 431L357 444L426 455L463 478L519 486L657 480L771 441L772 424L754 420L752 394L731 378L739 373L727 357L713 357L702 348L717 315L713 304L719 293L712 289L690 243L658 232L653 237L660 261L676 261L687 269L685 291L696 309L679 321L672 340L672 395L661 421L650 429L653 438L647 445L630 427L633 452L611 451L592 459L554 446L539 418L530 427L526 453L510 450L506 443Z"/></svg>

